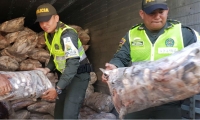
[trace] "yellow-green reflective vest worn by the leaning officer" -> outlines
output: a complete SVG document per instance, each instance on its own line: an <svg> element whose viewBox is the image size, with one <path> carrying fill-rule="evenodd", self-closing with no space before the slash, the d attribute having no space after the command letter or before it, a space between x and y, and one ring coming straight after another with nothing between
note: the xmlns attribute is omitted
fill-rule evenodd
<svg viewBox="0 0 200 120"><path fill-rule="evenodd" d="M54 56L54 64L56 66L56 69L58 71L60 71L61 73L65 69L66 59L71 58L70 56L66 57L67 53L65 51L63 51L62 45L60 43L62 32L66 29L72 29L76 32L75 29L65 25L64 28L59 28L58 31L55 32L54 38L53 38L51 44L49 43L49 40L47 38L47 33L45 32L45 40L46 40L45 43L47 45L47 48L50 51L50 54ZM84 51L84 48L82 46L80 39L78 39L78 54L80 57L79 62L81 62L82 60L84 60L86 58L86 54L85 54L85 51Z"/></svg>

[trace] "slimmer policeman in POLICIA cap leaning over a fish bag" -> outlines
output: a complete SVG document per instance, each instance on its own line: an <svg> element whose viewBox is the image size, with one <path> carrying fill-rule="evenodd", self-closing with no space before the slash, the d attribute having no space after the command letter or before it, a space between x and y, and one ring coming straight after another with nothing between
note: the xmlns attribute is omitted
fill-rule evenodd
<svg viewBox="0 0 200 120"><path fill-rule="evenodd" d="M44 74L56 69L59 75L56 88L48 89L42 98L57 98L55 119L77 119L90 80L90 64L76 30L59 21L51 4L40 5L36 16L36 22L45 32L45 43L51 55L45 68L36 69Z"/></svg>

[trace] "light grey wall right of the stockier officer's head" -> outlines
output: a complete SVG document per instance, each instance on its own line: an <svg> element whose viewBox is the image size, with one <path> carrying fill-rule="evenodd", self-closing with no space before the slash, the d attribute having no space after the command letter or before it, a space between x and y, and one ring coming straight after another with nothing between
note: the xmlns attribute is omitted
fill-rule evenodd
<svg viewBox="0 0 200 120"><path fill-rule="evenodd" d="M168 0L169 18L200 32L200 0Z"/></svg>

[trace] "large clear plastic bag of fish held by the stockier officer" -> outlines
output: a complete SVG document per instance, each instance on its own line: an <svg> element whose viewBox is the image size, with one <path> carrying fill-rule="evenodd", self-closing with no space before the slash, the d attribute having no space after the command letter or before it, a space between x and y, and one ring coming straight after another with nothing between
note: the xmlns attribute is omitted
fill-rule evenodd
<svg viewBox="0 0 200 120"><path fill-rule="evenodd" d="M200 43L157 61L102 71L108 76L113 104L123 118L200 93Z"/></svg>

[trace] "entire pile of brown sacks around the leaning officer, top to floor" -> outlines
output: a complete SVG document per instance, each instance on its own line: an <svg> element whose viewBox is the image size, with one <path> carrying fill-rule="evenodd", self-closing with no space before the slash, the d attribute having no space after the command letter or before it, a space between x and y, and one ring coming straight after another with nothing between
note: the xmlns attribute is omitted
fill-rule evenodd
<svg viewBox="0 0 200 120"><path fill-rule="evenodd" d="M70 25L77 30L85 51L89 48L89 30ZM50 59L46 49L44 33L36 33L24 27L24 17L6 21L0 25L0 71L29 71L36 67L45 67ZM94 72L90 73L85 101L80 110L80 119L114 119L110 111L114 108L111 96L94 92L93 84L97 80ZM48 73L47 78L55 86L56 73ZM0 101L0 118L9 119L53 119L55 101L41 98L22 98Z"/></svg>

